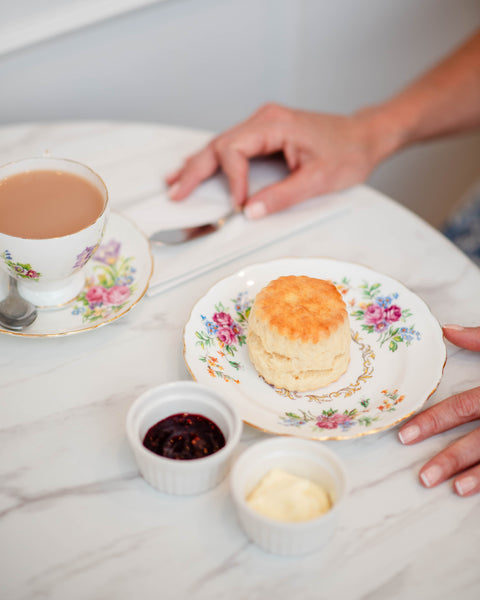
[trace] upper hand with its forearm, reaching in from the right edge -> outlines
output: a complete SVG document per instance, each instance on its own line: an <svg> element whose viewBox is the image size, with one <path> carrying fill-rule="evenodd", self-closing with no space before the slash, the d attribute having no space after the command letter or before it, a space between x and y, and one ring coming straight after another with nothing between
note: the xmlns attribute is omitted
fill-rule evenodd
<svg viewBox="0 0 480 600"><path fill-rule="evenodd" d="M352 116L268 104L168 176L170 197L183 200L222 168L234 206L259 218L360 183L400 148L480 124L479 58L480 31L391 100ZM248 159L276 152L291 175L248 197Z"/></svg>

